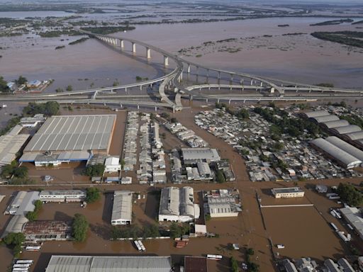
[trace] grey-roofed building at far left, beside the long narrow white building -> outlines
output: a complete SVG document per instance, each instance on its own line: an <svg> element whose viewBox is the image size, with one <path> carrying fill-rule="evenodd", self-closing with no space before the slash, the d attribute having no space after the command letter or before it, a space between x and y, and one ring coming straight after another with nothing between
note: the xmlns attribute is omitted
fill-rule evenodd
<svg viewBox="0 0 363 272"><path fill-rule="evenodd" d="M35 209L35 200L39 199L39 192L19 191L6 208L5 215L26 215Z"/></svg>

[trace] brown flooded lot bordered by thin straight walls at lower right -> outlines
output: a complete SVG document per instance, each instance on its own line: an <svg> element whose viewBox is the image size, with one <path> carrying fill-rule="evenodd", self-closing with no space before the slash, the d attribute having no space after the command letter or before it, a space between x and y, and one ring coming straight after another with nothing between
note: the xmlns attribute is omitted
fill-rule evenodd
<svg viewBox="0 0 363 272"><path fill-rule="evenodd" d="M283 258L309 256L319 261L349 254L347 246L313 207L262 208L274 248Z"/></svg>

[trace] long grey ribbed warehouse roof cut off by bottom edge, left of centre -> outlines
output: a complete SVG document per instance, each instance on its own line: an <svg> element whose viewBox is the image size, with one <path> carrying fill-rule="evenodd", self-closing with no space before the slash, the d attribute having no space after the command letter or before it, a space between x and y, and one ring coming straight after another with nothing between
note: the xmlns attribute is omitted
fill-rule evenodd
<svg viewBox="0 0 363 272"><path fill-rule="evenodd" d="M52 255L45 272L170 272L169 256Z"/></svg>

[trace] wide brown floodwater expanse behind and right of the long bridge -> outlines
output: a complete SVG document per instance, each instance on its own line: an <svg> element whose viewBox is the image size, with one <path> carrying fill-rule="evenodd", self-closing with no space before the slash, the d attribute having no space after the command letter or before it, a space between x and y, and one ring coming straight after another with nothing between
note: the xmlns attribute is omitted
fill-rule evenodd
<svg viewBox="0 0 363 272"><path fill-rule="evenodd" d="M311 23L328 20L330 18L262 18L218 23L137 26L135 30L120 35L149 42L176 54L182 48L203 48L203 42L242 38L242 43L238 45L240 52L218 52L207 48L196 51L201 57L195 57L194 54L184 58L210 67L306 84L326 81L340 87L361 88L363 50L318 40L309 35L314 31L358 31L349 24L309 26ZM289 27L277 26L282 24L289 24ZM286 33L307 34L282 36ZM263 37L264 35L273 37ZM258 42L261 39L264 42ZM230 42L223 46L230 47Z"/></svg>

